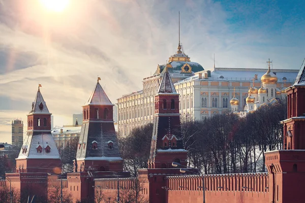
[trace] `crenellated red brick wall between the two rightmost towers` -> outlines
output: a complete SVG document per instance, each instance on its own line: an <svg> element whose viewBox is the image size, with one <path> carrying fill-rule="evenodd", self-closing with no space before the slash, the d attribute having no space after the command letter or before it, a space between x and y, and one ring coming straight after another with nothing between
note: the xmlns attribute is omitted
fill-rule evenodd
<svg viewBox="0 0 305 203"><path fill-rule="evenodd" d="M202 202L203 188L200 176L169 176L167 202ZM207 202L268 203L268 174L205 175Z"/></svg>

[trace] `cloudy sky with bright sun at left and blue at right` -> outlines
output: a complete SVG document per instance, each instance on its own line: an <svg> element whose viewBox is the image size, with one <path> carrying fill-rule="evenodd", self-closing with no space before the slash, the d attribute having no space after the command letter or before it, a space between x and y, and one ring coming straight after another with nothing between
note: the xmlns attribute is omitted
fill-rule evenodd
<svg viewBox="0 0 305 203"><path fill-rule="evenodd" d="M205 70L214 54L217 67L270 58L275 69L305 57L305 1L62 0L60 11L45 2L0 0L0 142L11 142L14 118L26 124L38 84L54 126L72 124L97 77L112 103L141 90L177 50L179 11L184 51Z"/></svg>

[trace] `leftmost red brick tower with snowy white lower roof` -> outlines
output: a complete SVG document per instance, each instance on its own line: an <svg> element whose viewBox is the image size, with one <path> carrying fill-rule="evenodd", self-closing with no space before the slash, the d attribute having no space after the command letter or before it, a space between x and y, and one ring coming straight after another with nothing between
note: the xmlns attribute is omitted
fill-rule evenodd
<svg viewBox="0 0 305 203"><path fill-rule="evenodd" d="M51 134L51 113L40 89L27 115L27 132L16 158L17 173L53 173L61 159Z"/></svg>

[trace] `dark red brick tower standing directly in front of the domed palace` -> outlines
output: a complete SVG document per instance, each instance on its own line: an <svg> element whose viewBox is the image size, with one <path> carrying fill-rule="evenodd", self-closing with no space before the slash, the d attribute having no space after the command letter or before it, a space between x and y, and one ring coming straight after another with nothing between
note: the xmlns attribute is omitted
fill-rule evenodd
<svg viewBox="0 0 305 203"><path fill-rule="evenodd" d="M166 70L155 96L148 168L138 170L141 184L149 188L149 202L167 202L165 177L181 175L180 168L172 167L172 162L187 164L188 151L182 147L180 128L179 94Z"/></svg>

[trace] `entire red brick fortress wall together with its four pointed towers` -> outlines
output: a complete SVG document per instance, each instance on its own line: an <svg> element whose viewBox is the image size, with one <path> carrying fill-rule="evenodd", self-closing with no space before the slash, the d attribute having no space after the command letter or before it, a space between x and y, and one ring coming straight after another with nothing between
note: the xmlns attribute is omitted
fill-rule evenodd
<svg viewBox="0 0 305 203"><path fill-rule="evenodd" d="M60 187L65 195L72 195L73 202L304 202L304 66L295 83L285 90L288 118L282 121L284 149L265 152L268 173L201 176L196 169L172 166L172 162L187 165L188 151L182 147L181 135L172 133L179 133L174 130L180 124L179 93L170 76L171 67L165 67L154 98L148 168L139 169L137 178L123 172L113 124L113 104L99 78L83 106L74 172L67 177L58 176L62 166L51 134L51 113L38 88L27 115L27 134L16 159L16 172L6 174L6 180L0 180L0 187L11 186L21 191L22 199L30 193L37 197L45 195L37 202L46 202L52 191ZM101 194L103 199L97 200Z"/></svg>

